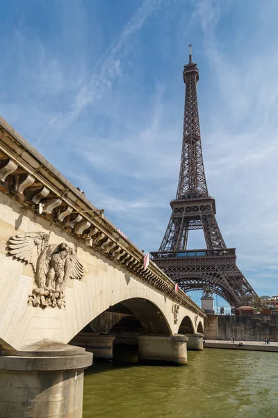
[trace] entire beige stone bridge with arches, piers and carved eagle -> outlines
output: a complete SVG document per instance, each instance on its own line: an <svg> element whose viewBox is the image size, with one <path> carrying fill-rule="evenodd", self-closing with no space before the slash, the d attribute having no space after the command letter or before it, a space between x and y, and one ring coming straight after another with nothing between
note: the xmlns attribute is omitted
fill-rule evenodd
<svg viewBox="0 0 278 418"><path fill-rule="evenodd" d="M204 311L144 255L0 118L0 418L80 418L92 353L202 350Z"/></svg>

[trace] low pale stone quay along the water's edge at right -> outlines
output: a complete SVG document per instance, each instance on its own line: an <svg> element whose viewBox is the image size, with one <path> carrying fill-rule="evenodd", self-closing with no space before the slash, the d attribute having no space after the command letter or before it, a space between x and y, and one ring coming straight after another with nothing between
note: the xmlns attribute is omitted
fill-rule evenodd
<svg viewBox="0 0 278 418"><path fill-rule="evenodd" d="M243 342L243 346L239 346L239 343ZM206 340L204 348L224 348L227 350L251 350L251 351L272 351L278 352L278 343L265 344L263 341L230 341L222 340Z"/></svg>

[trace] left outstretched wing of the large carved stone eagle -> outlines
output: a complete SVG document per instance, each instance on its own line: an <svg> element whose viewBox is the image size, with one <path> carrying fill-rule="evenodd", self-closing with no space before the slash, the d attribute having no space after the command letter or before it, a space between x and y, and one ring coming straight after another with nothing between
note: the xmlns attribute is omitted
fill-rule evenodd
<svg viewBox="0 0 278 418"><path fill-rule="evenodd" d="M49 235L43 232L21 233L8 240L8 254L31 263L36 271L38 256L47 247L48 241Z"/></svg>

